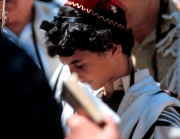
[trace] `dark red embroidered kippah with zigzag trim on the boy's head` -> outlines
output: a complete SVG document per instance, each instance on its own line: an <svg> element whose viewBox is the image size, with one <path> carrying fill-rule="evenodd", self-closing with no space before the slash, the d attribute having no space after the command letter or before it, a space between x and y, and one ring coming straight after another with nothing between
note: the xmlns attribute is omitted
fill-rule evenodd
<svg viewBox="0 0 180 139"><path fill-rule="evenodd" d="M92 14L121 29L126 29L125 13L115 0L68 0L64 5Z"/></svg>

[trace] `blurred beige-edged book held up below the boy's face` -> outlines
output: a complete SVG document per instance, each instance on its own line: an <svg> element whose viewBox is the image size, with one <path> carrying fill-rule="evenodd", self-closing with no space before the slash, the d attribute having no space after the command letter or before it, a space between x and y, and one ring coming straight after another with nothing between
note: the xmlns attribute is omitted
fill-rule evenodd
<svg viewBox="0 0 180 139"><path fill-rule="evenodd" d="M110 115L117 124L120 123L119 116L105 103L93 96L93 92L88 86L83 84L81 86L78 83L75 73L71 75L71 79L63 83L61 98L67 101L78 114L89 117L100 126L103 125L104 115Z"/></svg>

